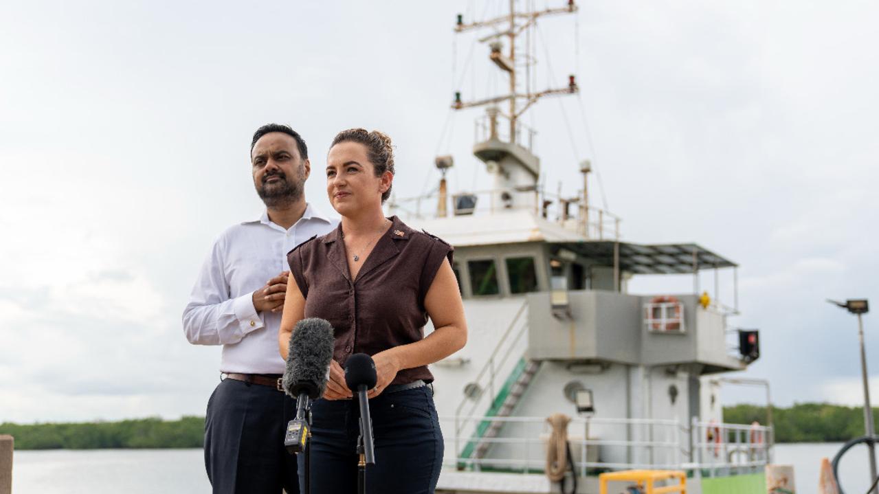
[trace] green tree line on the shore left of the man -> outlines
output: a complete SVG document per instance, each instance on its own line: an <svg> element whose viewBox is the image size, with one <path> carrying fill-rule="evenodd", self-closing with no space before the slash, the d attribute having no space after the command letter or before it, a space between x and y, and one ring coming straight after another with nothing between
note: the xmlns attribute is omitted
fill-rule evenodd
<svg viewBox="0 0 879 494"><path fill-rule="evenodd" d="M0 434L11 434L17 450L201 447L205 419L184 417L165 421L139 418L86 424L0 424Z"/></svg>

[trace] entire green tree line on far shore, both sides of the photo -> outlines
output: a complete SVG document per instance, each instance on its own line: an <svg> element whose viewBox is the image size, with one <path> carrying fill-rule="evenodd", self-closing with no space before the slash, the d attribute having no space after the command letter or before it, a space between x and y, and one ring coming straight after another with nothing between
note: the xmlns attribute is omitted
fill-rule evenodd
<svg viewBox="0 0 879 494"><path fill-rule="evenodd" d="M864 414L858 407L828 403L797 403L790 408L773 407L775 442L843 442L864 435ZM874 410L879 418L879 410ZM766 424L766 407L736 405L723 409L730 424ZM879 423L876 424L879 430ZM0 434L15 437L15 448L109 449L202 447L205 418L179 420L138 418L121 422L84 424L0 424Z"/></svg>

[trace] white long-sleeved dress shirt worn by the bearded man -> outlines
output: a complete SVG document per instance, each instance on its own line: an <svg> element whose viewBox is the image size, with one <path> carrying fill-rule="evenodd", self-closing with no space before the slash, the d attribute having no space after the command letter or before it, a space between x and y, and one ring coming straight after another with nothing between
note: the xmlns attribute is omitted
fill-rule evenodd
<svg viewBox="0 0 879 494"><path fill-rule="evenodd" d="M223 345L220 372L282 374L278 352L280 312L258 313L253 292L280 272L289 271L287 252L312 236L321 236L338 220L310 204L290 229L271 222L264 212L258 221L243 222L222 233L201 266L183 330L193 345Z"/></svg>

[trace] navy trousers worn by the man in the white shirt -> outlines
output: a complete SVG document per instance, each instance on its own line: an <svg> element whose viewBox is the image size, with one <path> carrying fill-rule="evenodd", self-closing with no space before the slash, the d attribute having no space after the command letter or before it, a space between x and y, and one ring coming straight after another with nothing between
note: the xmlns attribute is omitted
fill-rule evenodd
<svg viewBox="0 0 879 494"><path fill-rule="evenodd" d="M205 468L214 494L298 494L296 458L284 448L295 415L296 402L277 389L222 381L205 420Z"/></svg>

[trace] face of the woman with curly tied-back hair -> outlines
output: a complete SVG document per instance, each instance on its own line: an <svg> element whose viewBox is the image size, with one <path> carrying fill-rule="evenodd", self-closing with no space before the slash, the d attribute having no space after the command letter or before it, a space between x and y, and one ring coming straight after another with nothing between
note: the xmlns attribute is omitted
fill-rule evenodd
<svg viewBox="0 0 879 494"><path fill-rule="evenodd" d="M339 142L327 155L327 196L338 214L350 216L367 208L381 208L381 194L388 190L393 175L375 176L367 147L360 142Z"/></svg>

